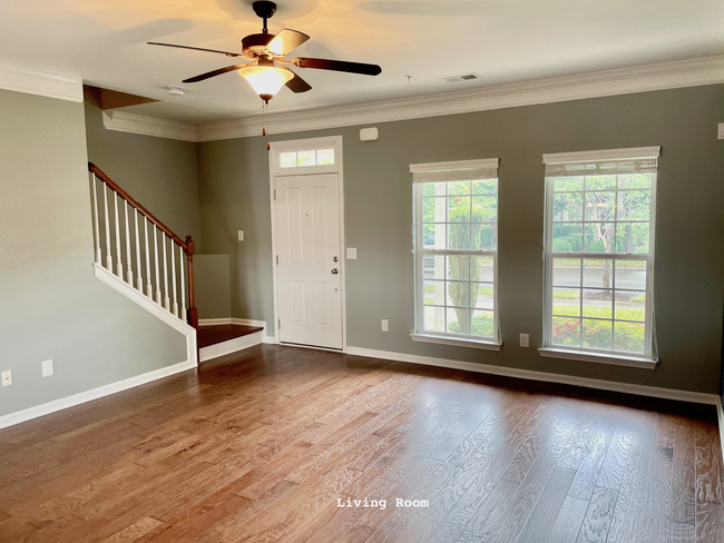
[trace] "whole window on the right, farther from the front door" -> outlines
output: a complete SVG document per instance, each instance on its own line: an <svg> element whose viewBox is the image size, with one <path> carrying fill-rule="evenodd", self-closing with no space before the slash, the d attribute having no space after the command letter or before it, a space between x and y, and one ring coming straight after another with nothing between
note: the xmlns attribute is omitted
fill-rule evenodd
<svg viewBox="0 0 724 543"><path fill-rule="evenodd" d="M655 358L658 154L653 147L544 156L547 347Z"/></svg>

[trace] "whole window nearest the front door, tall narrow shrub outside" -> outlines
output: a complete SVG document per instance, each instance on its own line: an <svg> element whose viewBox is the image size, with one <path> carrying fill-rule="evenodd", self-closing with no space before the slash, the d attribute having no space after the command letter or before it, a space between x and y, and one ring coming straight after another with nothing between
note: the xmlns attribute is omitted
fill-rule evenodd
<svg viewBox="0 0 724 543"><path fill-rule="evenodd" d="M420 164L410 171L415 256L412 338L499 348L498 159Z"/></svg>

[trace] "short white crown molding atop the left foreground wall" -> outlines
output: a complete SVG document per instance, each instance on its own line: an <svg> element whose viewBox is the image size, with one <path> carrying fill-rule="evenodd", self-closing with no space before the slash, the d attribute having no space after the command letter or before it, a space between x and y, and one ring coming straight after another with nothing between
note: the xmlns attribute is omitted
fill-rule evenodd
<svg viewBox="0 0 724 543"><path fill-rule="evenodd" d="M0 60L0 89L82 102L82 79Z"/></svg>

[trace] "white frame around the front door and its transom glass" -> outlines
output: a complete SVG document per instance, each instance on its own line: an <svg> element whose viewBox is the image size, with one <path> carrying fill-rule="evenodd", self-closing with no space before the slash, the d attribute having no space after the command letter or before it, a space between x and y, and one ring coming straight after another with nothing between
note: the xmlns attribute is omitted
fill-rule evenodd
<svg viewBox="0 0 724 543"><path fill-rule="evenodd" d="M334 165L307 166L282 170L278 167L276 157L282 151L300 151L310 148L333 148ZM274 190L276 189L277 177L309 176L316 174L336 174L340 182L340 287L342 294L342 352L346 353L346 246L344 244L344 167L342 157L342 136L329 136L325 138L292 139L286 141L273 141L270 144L268 168L270 168L270 204L272 208L272 283L274 290L274 344L281 343L280 337L280 310L278 310L278 277L276 270L276 201ZM324 347L314 347L327 351ZM329 349L339 353L336 349Z"/></svg>

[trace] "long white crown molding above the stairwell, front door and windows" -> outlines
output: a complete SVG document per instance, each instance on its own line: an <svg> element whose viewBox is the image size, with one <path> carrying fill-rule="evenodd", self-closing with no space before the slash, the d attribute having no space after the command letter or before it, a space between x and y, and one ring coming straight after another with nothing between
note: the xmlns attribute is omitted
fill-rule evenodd
<svg viewBox="0 0 724 543"><path fill-rule="evenodd" d="M267 118L273 134L290 134L716 83L724 83L724 56L495 85L414 98L272 113ZM111 115L108 119L104 116L104 125L110 130L184 141L215 141L258 136L264 125L262 116L194 126L118 111Z"/></svg>

